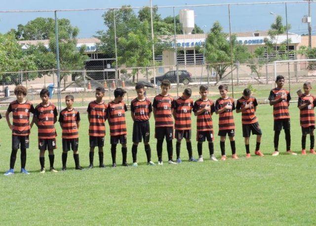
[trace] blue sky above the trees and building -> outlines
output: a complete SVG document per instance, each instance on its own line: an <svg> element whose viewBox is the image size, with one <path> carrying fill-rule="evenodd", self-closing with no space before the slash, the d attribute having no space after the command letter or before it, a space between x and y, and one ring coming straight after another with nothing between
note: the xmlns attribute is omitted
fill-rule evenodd
<svg viewBox="0 0 316 226"><path fill-rule="evenodd" d="M195 23L207 32L214 21L218 20L222 24L224 31L229 31L228 6L186 6L202 4L225 4L232 3L231 8L231 27L232 32L243 31L266 31L274 21L274 14L281 15L285 24L285 4L272 3L280 1L263 0L152 0L153 5L158 6L178 6L175 13L178 14L182 8L195 10ZM8 0L1 4L0 11L5 10L58 10L58 9L83 9L83 8L119 8L124 4L131 4L133 7L149 6L150 0L134 0L133 3L127 0ZM252 2L269 2L265 4L249 4ZM302 0L303 2L303 0ZM248 3L238 4L236 3ZM234 5L235 4L235 5ZM179 7L184 6L184 7ZM312 34L316 34L316 2L311 4L312 12ZM135 9L137 13L138 9ZM74 26L78 26L79 38L88 38L95 35L98 30L105 30L102 14L105 10L95 11L67 11L57 12L59 18L71 20ZM158 9L162 18L173 16L173 7L163 7ZM313 13L315 15L313 15ZM291 32L306 34L307 24L302 23L302 17L308 14L308 4L287 3L287 20L291 24ZM23 13L0 13L0 33L5 33L11 28L17 28L18 24L26 24L36 17L54 17L53 12L23 12ZM313 21L314 25L313 25Z"/></svg>

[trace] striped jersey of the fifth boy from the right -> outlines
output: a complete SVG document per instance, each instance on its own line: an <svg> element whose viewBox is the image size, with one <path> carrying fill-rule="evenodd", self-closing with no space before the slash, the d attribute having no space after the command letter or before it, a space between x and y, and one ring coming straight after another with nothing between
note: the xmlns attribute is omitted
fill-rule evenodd
<svg viewBox="0 0 316 226"><path fill-rule="evenodd" d="M212 114L215 112L214 102L210 99L202 100L198 99L194 102L193 112L197 112L204 109L205 106L210 106L210 111L204 111L197 115L197 131L212 131L213 130L213 119Z"/></svg>

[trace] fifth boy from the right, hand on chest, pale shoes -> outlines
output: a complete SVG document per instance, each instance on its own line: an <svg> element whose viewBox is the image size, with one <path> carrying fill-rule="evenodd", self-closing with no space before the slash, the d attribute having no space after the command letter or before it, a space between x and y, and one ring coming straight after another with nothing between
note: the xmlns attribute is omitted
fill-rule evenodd
<svg viewBox="0 0 316 226"><path fill-rule="evenodd" d="M208 141L208 150L210 159L218 161L214 156L214 133L212 115L215 112L214 102L208 99L208 87L201 85L199 87L201 98L196 100L193 107L194 115L197 116L197 152L198 162L203 162L202 145L205 138Z"/></svg>

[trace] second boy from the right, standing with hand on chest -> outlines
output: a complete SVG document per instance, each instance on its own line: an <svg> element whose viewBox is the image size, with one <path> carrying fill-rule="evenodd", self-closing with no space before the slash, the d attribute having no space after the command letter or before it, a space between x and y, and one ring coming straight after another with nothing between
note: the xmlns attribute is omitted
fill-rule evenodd
<svg viewBox="0 0 316 226"><path fill-rule="evenodd" d="M278 139L282 128L285 133L286 152L288 154L297 155L291 151L291 134L290 134L290 114L288 106L290 105L291 95L288 90L283 89L284 77L282 75L276 76L276 88L270 91L269 100L270 105L273 105L273 118L274 118L274 145L275 151L272 156L277 156L278 152Z"/></svg>

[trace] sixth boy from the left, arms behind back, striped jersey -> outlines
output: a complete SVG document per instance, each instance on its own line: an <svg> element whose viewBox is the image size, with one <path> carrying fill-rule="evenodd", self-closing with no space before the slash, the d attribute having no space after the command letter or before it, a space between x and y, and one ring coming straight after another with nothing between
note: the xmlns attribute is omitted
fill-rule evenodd
<svg viewBox="0 0 316 226"><path fill-rule="evenodd" d="M137 93L137 97L133 99L130 104L131 117L134 121L132 145L133 166L138 166L137 146L139 142L142 142L142 138L144 139L145 152L147 156L147 165L155 166L155 163L151 161L151 148L149 145L149 119L153 111L152 102L148 98L146 98L145 86L143 84L136 84L135 90Z"/></svg>

